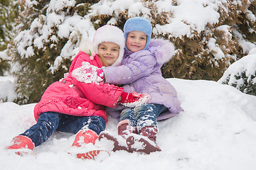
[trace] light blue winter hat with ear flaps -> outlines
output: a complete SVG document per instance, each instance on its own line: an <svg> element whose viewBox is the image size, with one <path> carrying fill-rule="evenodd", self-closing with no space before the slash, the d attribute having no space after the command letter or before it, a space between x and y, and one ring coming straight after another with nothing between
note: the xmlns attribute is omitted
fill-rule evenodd
<svg viewBox="0 0 256 170"><path fill-rule="evenodd" d="M132 32L134 30L142 31L143 33L146 34L146 46L143 49L143 50L146 50L146 48L149 47L149 43L151 40L151 33L152 33L151 23L148 20L146 20L145 18L138 17L138 16L134 17L134 18L129 18L124 23L124 38L125 38L125 40L127 40L128 33ZM125 48L127 49L126 43L125 43Z"/></svg>

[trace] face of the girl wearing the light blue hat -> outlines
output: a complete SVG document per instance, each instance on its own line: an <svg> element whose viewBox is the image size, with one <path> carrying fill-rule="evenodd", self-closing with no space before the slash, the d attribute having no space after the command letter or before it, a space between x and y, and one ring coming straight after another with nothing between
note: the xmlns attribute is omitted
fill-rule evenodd
<svg viewBox="0 0 256 170"><path fill-rule="evenodd" d="M146 34L137 30L128 33L126 45L131 52L143 50L146 46Z"/></svg>

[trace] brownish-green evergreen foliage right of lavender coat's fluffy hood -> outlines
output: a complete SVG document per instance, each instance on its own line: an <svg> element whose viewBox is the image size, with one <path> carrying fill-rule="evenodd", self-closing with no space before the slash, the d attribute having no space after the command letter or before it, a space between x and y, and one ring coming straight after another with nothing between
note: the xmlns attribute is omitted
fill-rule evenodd
<svg viewBox="0 0 256 170"><path fill-rule="evenodd" d="M176 45L176 53L161 68L164 77L218 80L223 75L230 58L215 60L214 52L208 50L207 35L204 33L196 38L171 38ZM213 37L218 40L218 37Z"/></svg>

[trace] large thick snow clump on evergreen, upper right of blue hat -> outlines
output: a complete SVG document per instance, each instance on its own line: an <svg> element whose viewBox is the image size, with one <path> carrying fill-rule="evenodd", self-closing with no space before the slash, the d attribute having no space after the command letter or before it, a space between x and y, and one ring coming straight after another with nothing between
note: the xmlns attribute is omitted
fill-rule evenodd
<svg viewBox="0 0 256 170"><path fill-rule="evenodd" d="M170 6L172 3L172 0L156 2L157 8L161 11L171 12L174 15L171 23L164 26L156 25L159 33L171 33L174 37L182 35L193 37L193 31L201 33L205 30L207 23L218 23L220 14L216 1L179 0L178 5Z"/></svg>

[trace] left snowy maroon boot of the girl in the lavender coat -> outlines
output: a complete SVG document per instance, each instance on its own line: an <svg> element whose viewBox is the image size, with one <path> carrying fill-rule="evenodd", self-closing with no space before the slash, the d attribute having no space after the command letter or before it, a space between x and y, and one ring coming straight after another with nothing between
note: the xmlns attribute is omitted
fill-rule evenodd
<svg viewBox="0 0 256 170"><path fill-rule="evenodd" d="M111 135L107 132L101 132L99 136L99 140L106 139L108 141L113 142L113 148L112 151L116 152L117 150L125 150L127 152L132 152L129 147L127 147L126 139L127 136L130 133L137 133L137 129L132 127L130 125L130 122L128 119L122 120L117 125L117 133L119 136L114 137L114 135Z"/></svg>

